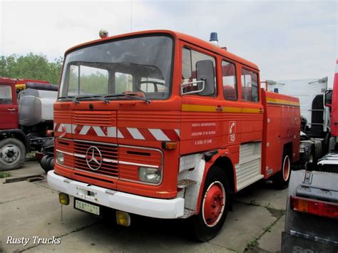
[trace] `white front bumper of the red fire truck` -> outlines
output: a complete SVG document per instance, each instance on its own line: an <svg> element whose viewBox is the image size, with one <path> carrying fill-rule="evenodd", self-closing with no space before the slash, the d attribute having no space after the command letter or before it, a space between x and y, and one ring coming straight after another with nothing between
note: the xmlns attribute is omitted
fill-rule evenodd
<svg viewBox="0 0 338 253"><path fill-rule="evenodd" d="M54 170L48 172L47 181L49 186L60 192L93 202L96 205L111 207L135 215L160 219L175 219L182 217L184 212L184 199L181 197L163 200L108 190L103 187L88 185L84 182L56 175ZM88 195L88 192L91 194Z"/></svg>

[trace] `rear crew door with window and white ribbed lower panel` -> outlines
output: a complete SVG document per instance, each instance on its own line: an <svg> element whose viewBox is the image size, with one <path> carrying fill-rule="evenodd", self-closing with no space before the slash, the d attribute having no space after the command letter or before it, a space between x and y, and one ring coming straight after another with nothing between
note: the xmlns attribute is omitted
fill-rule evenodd
<svg viewBox="0 0 338 253"><path fill-rule="evenodd" d="M235 166L237 190L262 177L263 115L258 71L241 66L240 99L242 100L240 162Z"/></svg>

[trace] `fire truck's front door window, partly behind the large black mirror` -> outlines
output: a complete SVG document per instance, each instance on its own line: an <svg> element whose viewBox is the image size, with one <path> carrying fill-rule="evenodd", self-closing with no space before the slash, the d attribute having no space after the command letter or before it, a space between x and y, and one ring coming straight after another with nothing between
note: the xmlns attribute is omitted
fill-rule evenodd
<svg viewBox="0 0 338 253"><path fill-rule="evenodd" d="M217 94L216 89L216 61L212 56L208 56L205 53L200 53L189 48L183 48L182 51L182 83L191 83L198 80L198 73L203 73L204 69L208 67L208 62L212 62L213 73L209 76L208 80L211 81L212 87L205 87L205 91L195 93L198 95L215 96ZM210 63L211 65L211 63ZM209 83L210 84L210 83ZM183 88L183 92L198 91L200 86L198 83L192 86L186 86Z"/></svg>

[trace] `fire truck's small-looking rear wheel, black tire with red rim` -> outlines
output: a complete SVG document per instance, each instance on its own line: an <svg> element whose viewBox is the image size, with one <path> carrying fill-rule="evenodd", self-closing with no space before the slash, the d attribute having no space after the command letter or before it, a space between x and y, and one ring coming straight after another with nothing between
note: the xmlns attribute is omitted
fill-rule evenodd
<svg viewBox="0 0 338 253"><path fill-rule="evenodd" d="M276 189L283 190L287 188L290 181L291 174L291 159L290 153L287 149L284 149L282 155L282 165L280 171L273 177L272 182Z"/></svg>

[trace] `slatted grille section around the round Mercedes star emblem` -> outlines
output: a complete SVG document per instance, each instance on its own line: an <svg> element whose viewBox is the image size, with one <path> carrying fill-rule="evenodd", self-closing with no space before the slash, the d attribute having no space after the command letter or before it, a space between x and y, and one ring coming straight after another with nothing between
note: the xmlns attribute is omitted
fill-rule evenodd
<svg viewBox="0 0 338 253"><path fill-rule="evenodd" d="M94 149L94 158L98 161L102 161L102 165L98 170L92 170L87 165L87 160L89 165L94 169L98 166L93 158L93 148L96 147L100 150L102 159L97 153L97 150ZM91 148L90 150L88 150ZM88 150L88 155L87 155ZM109 145L105 143L95 143L95 142L83 142L79 140L74 140L74 168L76 170L85 170L92 172L98 175L108 175L111 177L118 177L118 146Z"/></svg>

